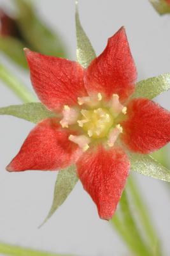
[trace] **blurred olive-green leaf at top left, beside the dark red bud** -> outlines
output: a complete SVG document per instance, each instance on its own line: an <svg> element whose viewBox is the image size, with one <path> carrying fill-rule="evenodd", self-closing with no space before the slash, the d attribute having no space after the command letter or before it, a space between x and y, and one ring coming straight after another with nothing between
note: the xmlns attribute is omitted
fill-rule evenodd
<svg viewBox="0 0 170 256"><path fill-rule="evenodd" d="M33 1L32 1L33 2ZM17 24L25 41L34 51L58 57L66 57L64 44L43 22L38 18L30 1L15 0L18 9Z"/></svg>

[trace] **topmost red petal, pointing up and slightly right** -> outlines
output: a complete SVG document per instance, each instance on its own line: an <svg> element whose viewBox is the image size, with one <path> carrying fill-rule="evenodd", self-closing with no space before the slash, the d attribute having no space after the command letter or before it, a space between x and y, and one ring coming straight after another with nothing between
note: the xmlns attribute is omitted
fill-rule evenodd
<svg viewBox="0 0 170 256"><path fill-rule="evenodd" d="M85 87L90 93L101 92L107 97L117 93L121 100L125 100L134 90L136 76L125 29L121 28L109 38L106 49L87 68Z"/></svg>

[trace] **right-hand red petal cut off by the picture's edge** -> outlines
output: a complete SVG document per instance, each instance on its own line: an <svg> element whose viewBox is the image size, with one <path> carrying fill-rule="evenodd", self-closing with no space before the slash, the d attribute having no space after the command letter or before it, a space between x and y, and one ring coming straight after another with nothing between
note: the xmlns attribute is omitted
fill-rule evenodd
<svg viewBox="0 0 170 256"><path fill-rule="evenodd" d="M122 122L122 139L134 152L148 154L170 141L170 112L148 99L134 99Z"/></svg>

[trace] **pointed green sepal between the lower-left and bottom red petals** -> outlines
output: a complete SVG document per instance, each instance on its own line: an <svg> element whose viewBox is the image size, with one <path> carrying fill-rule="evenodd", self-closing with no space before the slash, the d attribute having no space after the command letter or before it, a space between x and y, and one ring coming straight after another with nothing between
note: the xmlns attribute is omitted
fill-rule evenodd
<svg viewBox="0 0 170 256"><path fill-rule="evenodd" d="M67 196L71 193L77 182L78 177L76 175L75 166L69 166L68 168L59 171L57 180L55 182L52 207L47 217L45 218L45 221L43 221L39 227L42 227L53 215L53 213L59 208L59 206L64 203Z"/></svg>

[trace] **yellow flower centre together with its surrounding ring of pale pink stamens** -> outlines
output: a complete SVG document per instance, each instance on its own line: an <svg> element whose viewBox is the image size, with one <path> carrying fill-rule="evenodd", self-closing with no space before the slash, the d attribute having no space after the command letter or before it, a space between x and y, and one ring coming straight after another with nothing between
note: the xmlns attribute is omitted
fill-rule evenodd
<svg viewBox="0 0 170 256"><path fill-rule="evenodd" d="M122 116L119 122L118 116L127 113L127 108L121 104L118 95L113 94L111 99L105 102L103 95L97 93L78 98L78 104L85 106L85 109L80 111L81 107L70 108L65 105L62 110L60 124L63 128L74 125L74 129L79 126L83 130L79 135L70 134L69 140L76 143L83 151L88 150L89 145L94 142L92 139L105 138L102 141L104 146L114 147L118 136L123 132L122 126L118 124Z"/></svg>

